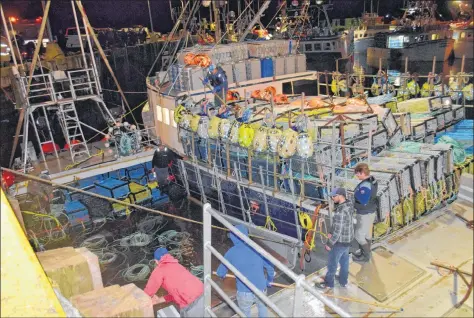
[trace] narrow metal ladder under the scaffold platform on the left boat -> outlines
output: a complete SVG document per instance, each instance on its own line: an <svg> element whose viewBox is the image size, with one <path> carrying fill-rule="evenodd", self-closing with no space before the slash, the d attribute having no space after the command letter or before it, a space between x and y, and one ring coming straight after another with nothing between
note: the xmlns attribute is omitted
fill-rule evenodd
<svg viewBox="0 0 474 318"><path fill-rule="evenodd" d="M72 161L75 162L75 157L83 154L90 156L74 102L59 103L58 118Z"/></svg>

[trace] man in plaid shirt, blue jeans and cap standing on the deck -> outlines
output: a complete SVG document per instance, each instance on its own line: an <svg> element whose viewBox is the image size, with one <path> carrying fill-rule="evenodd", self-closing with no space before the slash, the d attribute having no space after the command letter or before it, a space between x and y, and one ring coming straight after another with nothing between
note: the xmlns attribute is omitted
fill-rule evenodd
<svg viewBox="0 0 474 318"><path fill-rule="evenodd" d="M352 219L354 207L352 202L346 199L346 190L335 188L331 192L331 198L336 203L332 228L328 234L328 243L325 246L329 251L328 270L324 281L316 283L316 287L321 289L334 288L334 276L337 265L341 265L339 270L339 284L346 287L349 278L349 248L354 239L354 222Z"/></svg>

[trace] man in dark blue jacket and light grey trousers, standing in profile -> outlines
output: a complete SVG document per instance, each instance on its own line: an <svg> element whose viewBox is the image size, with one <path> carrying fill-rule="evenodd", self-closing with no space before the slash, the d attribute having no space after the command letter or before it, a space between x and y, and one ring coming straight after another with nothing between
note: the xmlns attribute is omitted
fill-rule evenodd
<svg viewBox="0 0 474 318"><path fill-rule="evenodd" d="M371 257L372 227L377 211L377 181L370 175L369 166L359 163L354 169L360 183L354 189L354 208L356 214L355 239L360 247L360 254L353 256L354 261L368 262Z"/></svg>

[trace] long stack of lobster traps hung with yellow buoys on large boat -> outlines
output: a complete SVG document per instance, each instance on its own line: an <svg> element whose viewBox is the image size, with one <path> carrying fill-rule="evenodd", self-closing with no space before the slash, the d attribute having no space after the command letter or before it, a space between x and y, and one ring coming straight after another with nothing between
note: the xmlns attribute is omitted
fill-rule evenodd
<svg viewBox="0 0 474 318"><path fill-rule="evenodd" d="M261 114L264 107L259 104L252 112ZM446 120L446 109L442 111ZM302 202L328 202L328 191L335 186L345 187L352 195L359 183L353 167L366 162L379 184L374 231L377 238L410 224L457 192L452 146L413 141L437 131L438 119L432 113L424 114L418 122L410 112L392 113L389 108L345 117L331 110L311 116L301 110L287 112L293 116L268 120L272 116L263 113L245 121L234 115L223 119L187 114L187 119L176 120L183 148L194 158L188 164L194 165L189 176L199 178L196 167L207 167L203 180L214 180L209 185L202 180L189 183L220 192L215 197L224 205L230 204L231 197L240 202L250 200L244 198L246 192L242 190L247 187L262 193L251 192L260 211L271 205L268 194L263 195L265 191L273 193L272 200L285 206L283 210L302 211L307 210ZM423 127L421 139L413 138L418 125ZM242 189L227 193L229 183ZM298 222L288 211L272 212L257 225L266 226L268 217L281 224Z"/></svg>

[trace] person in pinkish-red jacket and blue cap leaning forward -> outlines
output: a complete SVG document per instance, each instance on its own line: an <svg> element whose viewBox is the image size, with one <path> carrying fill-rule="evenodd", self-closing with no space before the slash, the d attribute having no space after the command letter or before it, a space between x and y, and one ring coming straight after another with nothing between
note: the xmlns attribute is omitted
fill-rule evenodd
<svg viewBox="0 0 474 318"><path fill-rule="evenodd" d="M204 314L203 283L179 264L166 248L158 248L154 257L157 266L145 287L145 293L151 297L153 305L174 302L180 309L181 317L202 317ZM158 297L156 292L160 287L163 287L168 295Z"/></svg>

